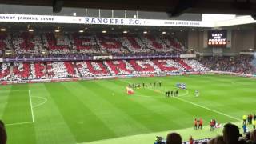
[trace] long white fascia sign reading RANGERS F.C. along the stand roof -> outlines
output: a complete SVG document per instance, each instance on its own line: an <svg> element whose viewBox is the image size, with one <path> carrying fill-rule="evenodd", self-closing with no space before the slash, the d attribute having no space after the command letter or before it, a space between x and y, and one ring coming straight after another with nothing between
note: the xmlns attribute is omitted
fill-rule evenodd
<svg viewBox="0 0 256 144"><path fill-rule="evenodd" d="M176 21L137 18L96 18L54 15L0 14L0 22L44 22L44 23L76 23L121 26L187 26L214 27L214 22Z"/></svg>

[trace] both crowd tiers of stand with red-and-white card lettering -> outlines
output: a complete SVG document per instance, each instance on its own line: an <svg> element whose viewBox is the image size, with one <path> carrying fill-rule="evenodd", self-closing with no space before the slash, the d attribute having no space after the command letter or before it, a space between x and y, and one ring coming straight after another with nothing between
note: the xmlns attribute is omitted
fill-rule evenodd
<svg viewBox="0 0 256 144"><path fill-rule="evenodd" d="M208 70L254 74L253 57L140 58L185 54L178 39L165 34L95 34L1 32L2 58L50 58L46 62L1 63L0 80L22 81L56 78L95 78L107 76L150 76ZM77 56L91 57L79 61ZM93 56L137 58L93 59ZM55 58L54 61L51 58ZM65 62L56 58L66 58ZM68 58L74 58L74 61ZM56 62L58 61L58 62Z"/></svg>

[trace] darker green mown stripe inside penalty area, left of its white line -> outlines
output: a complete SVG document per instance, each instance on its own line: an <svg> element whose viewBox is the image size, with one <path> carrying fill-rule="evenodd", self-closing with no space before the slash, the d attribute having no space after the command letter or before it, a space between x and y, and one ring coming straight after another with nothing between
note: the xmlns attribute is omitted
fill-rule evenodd
<svg viewBox="0 0 256 144"><path fill-rule="evenodd" d="M21 142L26 144L37 143L35 139L34 123L31 119L30 98L27 89L28 85L25 84L13 85L10 90L8 104L6 105L3 115L4 122L8 124L6 130L7 135L10 136L8 138L9 144Z"/></svg>

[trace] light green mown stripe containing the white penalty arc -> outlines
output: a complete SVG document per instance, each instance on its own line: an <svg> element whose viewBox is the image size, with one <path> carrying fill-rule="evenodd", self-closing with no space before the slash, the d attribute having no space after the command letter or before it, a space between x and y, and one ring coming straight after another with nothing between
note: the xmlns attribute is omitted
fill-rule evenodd
<svg viewBox="0 0 256 144"><path fill-rule="evenodd" d="M73 134L66 125L62 114L50 94L46 90L45 83L30 84L31 98L34 108L34 130L37 144L70 144L76 143ZM40 98L37 98L40 97ZM47 102L41 106L35 107L42 103L42 98Z"/></svg>

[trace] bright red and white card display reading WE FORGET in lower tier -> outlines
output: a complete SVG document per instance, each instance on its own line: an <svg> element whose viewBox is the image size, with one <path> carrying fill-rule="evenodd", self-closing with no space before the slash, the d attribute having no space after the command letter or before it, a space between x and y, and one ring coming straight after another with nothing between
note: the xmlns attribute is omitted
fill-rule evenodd
<svg viewBox="0 0 256 144"><path fill-rule="evenodd" d="M208 70L194 59L144 59L82 62L14 62L0 64L0 81L86 78Z"/></svg>

